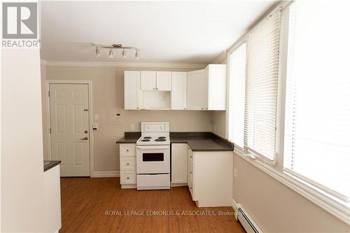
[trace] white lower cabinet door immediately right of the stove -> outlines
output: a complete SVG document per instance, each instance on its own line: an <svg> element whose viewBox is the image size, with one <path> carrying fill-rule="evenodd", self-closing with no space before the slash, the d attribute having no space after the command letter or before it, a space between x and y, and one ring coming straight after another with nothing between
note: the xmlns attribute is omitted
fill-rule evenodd
<svg viewBox="0 0 350 233"><path fill-rule="evenodd" d="M172 143L172 183L187 183L187 143Z"/></svg>

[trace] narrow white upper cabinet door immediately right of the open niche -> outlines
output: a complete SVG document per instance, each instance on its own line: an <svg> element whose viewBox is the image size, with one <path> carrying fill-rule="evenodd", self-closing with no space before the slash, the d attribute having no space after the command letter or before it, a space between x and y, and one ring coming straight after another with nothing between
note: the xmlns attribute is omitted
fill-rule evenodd
<svg viewBox="0 0 350 233"><path fill-rule="evenodd" d="M172 109L186 109L186 72L172 72Z"/></svg>

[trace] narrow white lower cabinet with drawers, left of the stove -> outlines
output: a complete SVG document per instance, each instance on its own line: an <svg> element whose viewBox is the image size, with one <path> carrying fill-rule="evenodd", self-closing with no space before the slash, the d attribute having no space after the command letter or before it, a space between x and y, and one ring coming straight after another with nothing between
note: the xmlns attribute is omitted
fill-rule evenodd
<svg viewBox="0 0 350 233"><path fill-rule="evenodd" d="M136 144L120 143L120 184L122 188L136 188Z"/></svg>

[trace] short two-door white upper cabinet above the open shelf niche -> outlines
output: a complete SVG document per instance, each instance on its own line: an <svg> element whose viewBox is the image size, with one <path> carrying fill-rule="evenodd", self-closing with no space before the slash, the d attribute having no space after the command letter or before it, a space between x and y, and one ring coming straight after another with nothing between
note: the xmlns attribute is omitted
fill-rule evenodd
<svg viewBox="0 0 350 233"><path fill-rule="evenodd" d="M172 90L172 72L141 71L141 90Z"/></svg>

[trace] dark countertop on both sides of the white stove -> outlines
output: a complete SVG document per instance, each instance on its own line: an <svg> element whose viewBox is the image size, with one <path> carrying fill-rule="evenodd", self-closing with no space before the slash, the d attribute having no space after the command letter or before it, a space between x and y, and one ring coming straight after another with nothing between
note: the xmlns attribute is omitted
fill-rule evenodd
<svg viewBox="0 0 350 233"><path fill-rule="evenodd" d="M139 132L125 132L116 143L136 143ZM188 143L193 151L233 151L233 144L211 132L170 132L170 143Z"/></svg>

